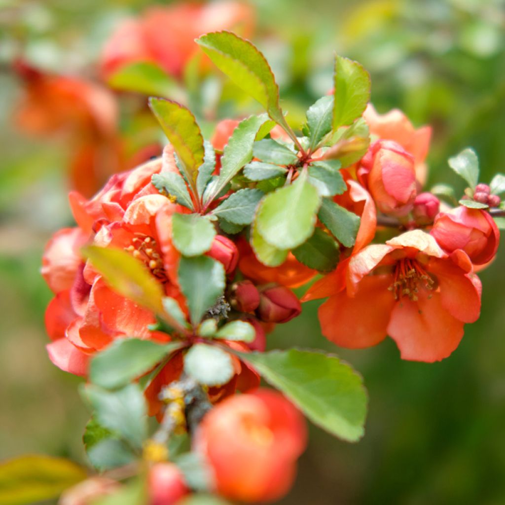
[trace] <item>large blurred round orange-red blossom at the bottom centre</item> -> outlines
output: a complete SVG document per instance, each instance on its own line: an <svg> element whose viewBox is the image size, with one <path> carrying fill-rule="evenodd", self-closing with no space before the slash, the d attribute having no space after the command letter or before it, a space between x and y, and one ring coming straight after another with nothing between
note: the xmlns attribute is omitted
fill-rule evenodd
<svg viewBox="0 0 505 505"><path fill-rule="evenodd" d="M260 389L227 398L206 414L195 449L211 464L219 494L274 501L291 487L306 436L304 420L291 403Z"/></svg>

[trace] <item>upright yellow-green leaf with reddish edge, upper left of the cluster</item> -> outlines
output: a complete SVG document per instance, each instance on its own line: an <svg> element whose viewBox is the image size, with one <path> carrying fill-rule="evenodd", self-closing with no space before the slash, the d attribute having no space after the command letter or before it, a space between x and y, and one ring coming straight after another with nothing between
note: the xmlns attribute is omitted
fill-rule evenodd
<svg viewBox="0 0 505 505"><path fill-rule="evenodd" d="M174 146L182 173L194 194L198 167L204 163L204 138L188 109L163 98L149 98L149 107L158 119L165 135Z"/></svg>

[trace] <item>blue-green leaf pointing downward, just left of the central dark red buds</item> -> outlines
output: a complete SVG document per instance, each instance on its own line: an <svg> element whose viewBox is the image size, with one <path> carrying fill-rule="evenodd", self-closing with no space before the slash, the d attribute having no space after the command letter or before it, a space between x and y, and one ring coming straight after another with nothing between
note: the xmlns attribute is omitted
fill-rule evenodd
<svg viewBox="0 0 505 505"><path fill-rule="evenodd" d="M221 263L207 256L181 258L179 283L186 297L191 322L197 325L223 294L225 272Z"/></svg>

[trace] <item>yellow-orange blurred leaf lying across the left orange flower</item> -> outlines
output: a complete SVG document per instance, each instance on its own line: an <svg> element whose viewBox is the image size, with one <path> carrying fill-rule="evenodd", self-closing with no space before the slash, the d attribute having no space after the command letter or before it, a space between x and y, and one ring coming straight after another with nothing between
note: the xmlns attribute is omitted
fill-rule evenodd
<svg viewBox="0 0 505 505"><path fill-rule="evenodd" d="M82 248L93 267L112 289L153 312L162 312L163 291L145 265L128 252L90 245Z"/></svg>

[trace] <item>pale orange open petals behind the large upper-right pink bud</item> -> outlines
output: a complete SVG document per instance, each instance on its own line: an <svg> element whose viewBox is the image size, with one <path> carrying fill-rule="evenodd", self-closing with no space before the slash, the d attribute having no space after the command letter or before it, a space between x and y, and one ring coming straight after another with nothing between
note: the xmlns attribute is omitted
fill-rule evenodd
<svg viewBox="0 0 505 505"><path fill-rule="evenodd" d="M416 130L400 110L393 109L386 114L377 114L372 104L368 104L363 117L372 135L384 140L394 140L414 157L416 178L423 186L426 182L424 161L430 146L431 127L422 126Z"/></svg>

